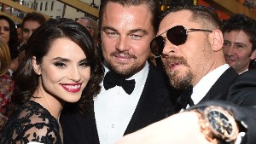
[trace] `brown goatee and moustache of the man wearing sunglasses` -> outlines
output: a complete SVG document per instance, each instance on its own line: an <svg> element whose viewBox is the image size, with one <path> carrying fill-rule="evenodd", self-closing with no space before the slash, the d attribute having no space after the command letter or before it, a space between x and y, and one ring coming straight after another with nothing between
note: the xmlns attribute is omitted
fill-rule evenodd
<svg viewBox="0 0 256 144"><path fill-rule="evenodd" d="M171 57L164 58L164 66L166 69L166 74L169 78L170 84L176 89L187 89L189 85L192 84L192 79L194 79L194 75L189 69L188 72L185 72L183 75L178 76L178 72L170 72L170 67L168 66L169 63L178 63L179 65L190 67L183 57L177 57L172 55Z"/></svg>

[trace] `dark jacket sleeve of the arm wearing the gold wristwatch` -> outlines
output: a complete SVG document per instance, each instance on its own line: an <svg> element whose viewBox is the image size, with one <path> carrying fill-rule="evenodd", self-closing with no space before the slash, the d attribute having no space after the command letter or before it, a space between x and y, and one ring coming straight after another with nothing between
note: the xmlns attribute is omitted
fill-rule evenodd
<svg viewBox="0 0 256 144"><path fill-rule="evenodd" d="M198 107L219 106L229 110L239 126L239 132L245 132L241 144L254 144L256 141L256 70L243 72L232 81L224 96L224 101L203 101L189 110ZM218 99L219 100L219 99Z"/></svg>

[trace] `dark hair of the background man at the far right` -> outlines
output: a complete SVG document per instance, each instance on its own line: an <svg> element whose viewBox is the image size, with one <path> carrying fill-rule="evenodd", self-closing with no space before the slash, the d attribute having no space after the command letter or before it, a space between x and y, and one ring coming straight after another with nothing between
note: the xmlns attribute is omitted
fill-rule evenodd
<svg viewBox="0 0 256 144"><path fill-rule="evenodd" d="M243 31L250 37L252 52L256 49L256 21L245 14L235 14L224 22L223 32Z"/></svg>

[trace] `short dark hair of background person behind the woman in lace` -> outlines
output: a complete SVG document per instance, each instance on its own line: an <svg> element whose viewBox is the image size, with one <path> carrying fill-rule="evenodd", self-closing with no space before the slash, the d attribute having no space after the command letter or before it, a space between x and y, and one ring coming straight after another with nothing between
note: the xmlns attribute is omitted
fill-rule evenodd
<svg viewBox="0 0 256 144"><path fill-rule="evenodd" d="M46 18L44 17L43 14L31 12L31 13L27 13L26 16L23 18L21 23L21 28L23 29L24 23L30 20L37 21L38 24L40 24L40 26L46 22Z"/></svg>

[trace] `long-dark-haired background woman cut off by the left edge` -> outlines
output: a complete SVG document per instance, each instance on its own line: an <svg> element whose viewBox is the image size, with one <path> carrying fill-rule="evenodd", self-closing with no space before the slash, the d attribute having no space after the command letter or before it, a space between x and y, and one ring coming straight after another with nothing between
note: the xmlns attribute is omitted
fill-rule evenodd
<svg viewBox="0 0 256 144"><path fill-rule="evenodd" d="M0 15L0 37L2 37L9 45L9 52L12 59L9 72L10 75L12 75L12 72L15 72L19 66L18 34L15 27L15 22L4 15Z"/></svg>

